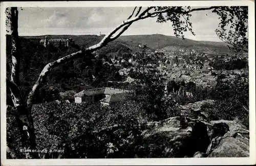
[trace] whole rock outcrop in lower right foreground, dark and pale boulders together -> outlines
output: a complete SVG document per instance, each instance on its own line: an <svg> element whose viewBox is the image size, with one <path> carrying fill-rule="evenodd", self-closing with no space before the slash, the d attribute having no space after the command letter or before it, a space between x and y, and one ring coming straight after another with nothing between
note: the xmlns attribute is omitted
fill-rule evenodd
<svg viewBox="0 0 256 166"><path fill-rule="evenodd" d="M152 123L142 135L138 157L249 156L249 131L234 121L207 123L176 116Z"/></svg>

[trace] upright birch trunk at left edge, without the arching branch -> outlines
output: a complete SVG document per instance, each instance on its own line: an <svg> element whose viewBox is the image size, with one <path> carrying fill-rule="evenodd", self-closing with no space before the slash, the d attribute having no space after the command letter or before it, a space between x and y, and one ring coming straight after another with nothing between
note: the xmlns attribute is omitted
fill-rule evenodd
<svg viewBox="0 0 256 166"><path fill-rule="evenodd" d="M7 86L10 88L11 97L13 101L13 111L15 111L15 118L17 127L22 136L22 148L24 150L36 149L35 129L33 119L31 116L31 108L28 108L25 100L21 99L19 89L19 66L20 66L20 41L18 36L18 10L17 7L11 7L10 13L10 28L12 39L12 70L11 80L7 79ZM37 153L25 153L26 158L38 158Z"/></svg>

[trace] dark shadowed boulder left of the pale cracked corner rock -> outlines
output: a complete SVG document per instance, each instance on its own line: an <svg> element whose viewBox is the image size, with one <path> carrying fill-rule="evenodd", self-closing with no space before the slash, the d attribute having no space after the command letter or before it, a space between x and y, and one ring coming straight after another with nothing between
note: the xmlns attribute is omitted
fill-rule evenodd
<svg viewBox="0 0 256 166"><path fill-rule="evenodd" d="M207 126L185 118L185 128L185 125L181 127L179 119L178 116L168 118L162 121L165 126L144 132L139 157L193 157L196 152L206 152L210 144Z"/></svg>

